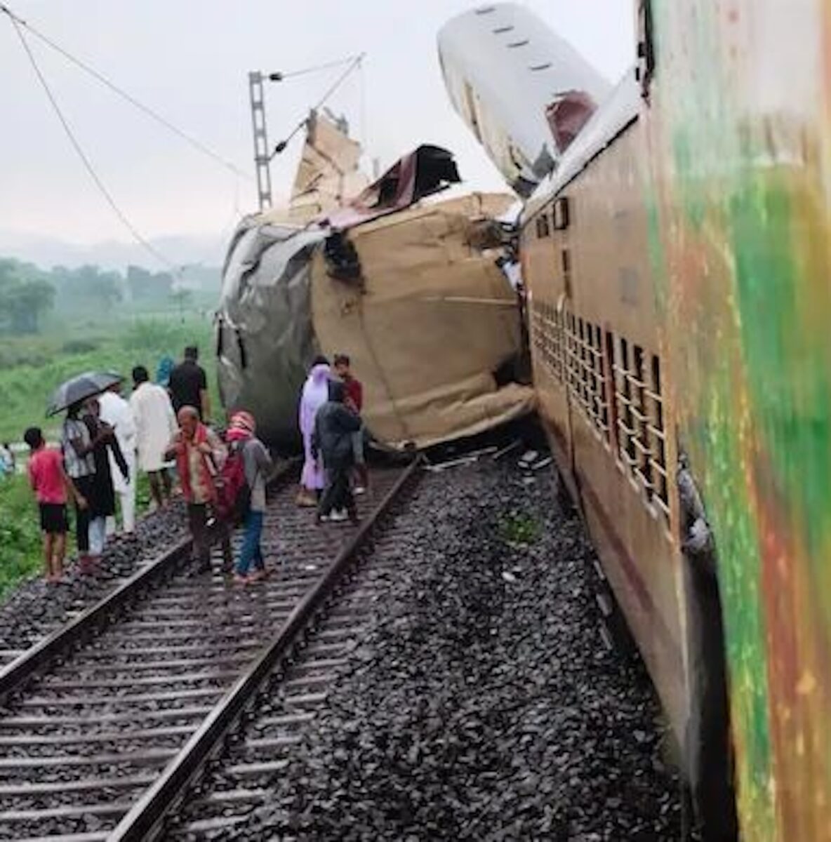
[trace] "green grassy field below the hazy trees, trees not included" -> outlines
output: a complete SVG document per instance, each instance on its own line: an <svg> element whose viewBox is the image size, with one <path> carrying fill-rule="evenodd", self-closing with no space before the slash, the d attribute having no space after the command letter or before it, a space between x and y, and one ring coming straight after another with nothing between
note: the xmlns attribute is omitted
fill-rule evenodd
<svg viewBox="0 0 831 842"><path fill-rule="evenodd" d="M200 317L135 317L109 324L67 325L37 337L0 338L0 441L19 442L38 425L57 440L61 416L45 418L46 402L61 381L86 370L113 370L127 378L134 365L151 377L165 354L181 359L185 345L200 347L211 400L219 408L210 322ZM218 414L215 412L214 417ZM146 477L139 478L138 510L149 501ZM70 552L72 552L72 541ZM34 497L24 475L0 478L0 600L22 578L39 575L40 530Z"/></svg>

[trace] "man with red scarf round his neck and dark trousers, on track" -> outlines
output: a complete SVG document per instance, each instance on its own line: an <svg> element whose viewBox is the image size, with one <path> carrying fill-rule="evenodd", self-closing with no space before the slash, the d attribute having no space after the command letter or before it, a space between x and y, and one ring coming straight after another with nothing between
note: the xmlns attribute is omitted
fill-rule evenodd
<svg viewBox="0 0 831 842"><path fill-rule="evenodd" d="M178 433L168 445L166 458L176 460L182 493L188 504L188 525L194 539L197 573L210 570L211 527L219 533L222 556L232 567L231 538L226 525L214 517L211 504L216 499L214 477L225 461L225 447L219 436L199 419L195 407L178 411Z"/></svg>

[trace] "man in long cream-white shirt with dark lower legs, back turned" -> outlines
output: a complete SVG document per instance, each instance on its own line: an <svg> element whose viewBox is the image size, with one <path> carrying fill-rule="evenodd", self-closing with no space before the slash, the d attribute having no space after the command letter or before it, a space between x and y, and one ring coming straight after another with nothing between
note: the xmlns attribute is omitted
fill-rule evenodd
<svg viewBox="0 0 831 842"><path fill-rule="evenodd" d="M164 451L178 431L178 424L167 390L150 382L143 365L133 369L130 408L136 421L138 466L146 472L153 501L161 508L170 499L170 477Z"/></svg>

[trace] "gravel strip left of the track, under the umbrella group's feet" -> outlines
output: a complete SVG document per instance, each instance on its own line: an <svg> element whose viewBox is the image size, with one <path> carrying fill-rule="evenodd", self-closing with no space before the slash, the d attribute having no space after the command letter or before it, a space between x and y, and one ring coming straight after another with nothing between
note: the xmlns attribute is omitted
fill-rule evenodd
<svg viewBox="0 0 831 842"><path fill-rule="evenodd" d="M94 573L79 573L74 560L67 559L66 573L59 584L46 584L43 578L24 582L0 605L0 650L12 653L34 645L102 599L117 586L117 580L131 576L185 532L184 505L176 501L136 524L137 541L110 539ZM10 659L7 654L0 664Z"/></svg>

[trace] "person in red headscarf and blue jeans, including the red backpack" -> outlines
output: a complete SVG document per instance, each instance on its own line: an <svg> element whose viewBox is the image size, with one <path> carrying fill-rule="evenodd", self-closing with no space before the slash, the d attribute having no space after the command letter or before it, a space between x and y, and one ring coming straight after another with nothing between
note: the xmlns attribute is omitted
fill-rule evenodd
<svg viewBox="0 0 831 842"><path fill-rule="evenodd" d="M274 463L263 442L256 437L256 429L253 415L241 411L232 415L226 433L228 459L222 470L222 488L231 493L223 495L221 491L220 495L225 498L226 509L232 504L245 528L234 572L234 581L239 584L257 582L265 576L260 537L265 514L265 482L274 470Z"/></svg>

